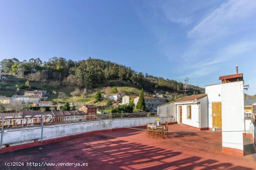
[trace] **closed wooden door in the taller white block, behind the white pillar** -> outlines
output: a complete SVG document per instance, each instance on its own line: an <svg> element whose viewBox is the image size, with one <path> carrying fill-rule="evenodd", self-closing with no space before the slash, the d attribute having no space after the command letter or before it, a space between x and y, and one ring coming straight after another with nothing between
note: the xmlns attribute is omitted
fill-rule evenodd
<svg viewBox="0 0 256 170"><path fill-rule="evenodd" d="M212 127L221 129L222 128L222 103L212 103Z"/></svg>

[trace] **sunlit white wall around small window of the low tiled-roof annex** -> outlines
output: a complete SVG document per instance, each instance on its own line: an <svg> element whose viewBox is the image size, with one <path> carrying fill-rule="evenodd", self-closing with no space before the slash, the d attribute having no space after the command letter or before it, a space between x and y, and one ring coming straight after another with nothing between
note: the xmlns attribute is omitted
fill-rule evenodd
<svg viewBox="0 0 256 170"><path fill-rule="evenodd" d="M199 104L177 104L176 110L178 123L180 123L180 106L182 106L182 124L199 127ZM191 119L187 119L187 106L191 106Z"/></svg>

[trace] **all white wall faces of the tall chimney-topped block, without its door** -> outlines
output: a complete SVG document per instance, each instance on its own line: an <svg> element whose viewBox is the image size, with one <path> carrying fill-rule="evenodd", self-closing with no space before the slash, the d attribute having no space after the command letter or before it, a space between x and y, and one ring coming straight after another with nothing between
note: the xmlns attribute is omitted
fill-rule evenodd
<svg viewBox="0 0 256 170"><path fill-rule="evenodd" d="M222 102L222 146L243 150L243 81L206 86L205 92L208 95L209 127L212 128L212 103Z"/></svg>

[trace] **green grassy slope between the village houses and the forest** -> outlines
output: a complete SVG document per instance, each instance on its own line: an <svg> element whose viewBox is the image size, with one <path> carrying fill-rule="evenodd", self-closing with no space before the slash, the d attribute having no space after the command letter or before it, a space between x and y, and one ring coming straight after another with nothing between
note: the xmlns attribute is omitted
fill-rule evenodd
<svg viewBox="0 0 256 170"><path fill-rule="evenodd" d="M16 85L24 85L26 79L21 79L15 76L8 76L8 81L0 82L0 95L6 95L7 97L11 97L14 94L23 95L24 91L27 89L19 89L15 87ZM50 81L50 82L30 82L31 90L46 90L48 93L48 101L54 101L54 103L63 103L66 101L73 102L75 105L81 104L95 104L95 105L106 105L107 101L96 102L94 99L94 95L97 90L102 92L104 95L103 88L106 86L117 87L118 91L122 94L139 94L141 90L139 87L133 85L130 82L121 82L121 81L105 81L101 84L97 84L94 89L90 89L89 92L86 93L84 97L82 96L71 96L71 92L78 87L70 87L70 86L58 86L58 82ZM53 91L56 91L57 94L52 94ZM150 93L148 93L150 94Z"/></svg>

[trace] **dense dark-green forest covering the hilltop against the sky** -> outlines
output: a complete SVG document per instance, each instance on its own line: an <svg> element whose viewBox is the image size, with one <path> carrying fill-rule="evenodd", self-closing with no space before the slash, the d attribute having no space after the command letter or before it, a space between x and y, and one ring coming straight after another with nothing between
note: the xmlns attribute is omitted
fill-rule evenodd
<svg viewBox="0 0 256 170"><path fill-rule="evenodd" d="M72 61L53 57L46 62L42 62L40 58L31 58L28 61L12 58L3 59L0 67L2 74L25 78L30 82L54 82L54 86L63 88L74 86L91 89L115 80L143 87L151 93L184 93L182 82L143 75L130 67L94 58ZM188 90L187 94L200 94L204 91L203 88L194 85L188 85Z"/></svg>

